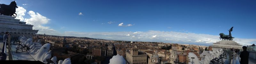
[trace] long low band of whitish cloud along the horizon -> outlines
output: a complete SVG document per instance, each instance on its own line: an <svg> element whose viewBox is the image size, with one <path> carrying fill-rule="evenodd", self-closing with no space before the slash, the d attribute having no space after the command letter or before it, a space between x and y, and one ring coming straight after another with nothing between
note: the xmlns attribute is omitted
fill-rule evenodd
<svg viewBox="0 0 256 64"><path fill-rule="evenodd" d="M129 34L130 36L126 36ZM132 36L131 36L132 34ZM146 32L65 32L66 36L103 38L109 40L125 40L125 41L145 41L145 42L176 42L190 44L212 45L214 42L221 41L219 35L184 33L175 31L146 31ZM152 39L154 35L154 39ZM136 38L135 38L136 36ZM160 37L161 36L161 37ZM132 38L131 38L132 37ZM187 37L187 38L185 38ZM157 39L156 39L157 38ZM241 45L251 45L256 42L256 39L242 39L236 37L234 39Z"/></svg>

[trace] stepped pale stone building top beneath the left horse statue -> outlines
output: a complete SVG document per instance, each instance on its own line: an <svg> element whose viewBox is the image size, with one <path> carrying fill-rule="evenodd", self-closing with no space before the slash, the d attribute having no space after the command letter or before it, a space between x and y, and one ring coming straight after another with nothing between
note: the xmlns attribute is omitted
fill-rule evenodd
<svg viewBox="0 0 256 64"><path fill-rule="evenodd" d="M33 25L21 22L20 19L14 19L13 16L0 15L0 35L4 35L5 32L9 32L12 37L25 36L32 38L38 30L33 30Z"/></svg>

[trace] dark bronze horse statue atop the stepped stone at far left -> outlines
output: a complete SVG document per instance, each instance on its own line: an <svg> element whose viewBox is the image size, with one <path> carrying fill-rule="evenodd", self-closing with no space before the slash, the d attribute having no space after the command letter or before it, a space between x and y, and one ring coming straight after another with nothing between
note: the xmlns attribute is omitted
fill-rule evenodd
<svg viewBox="0 0 256 64"><path fill-rule="evenodd" d="M10 5L0 4L0 15L14 16L13 14L15 14L17 16L15 13L16 8L18 8L18 6L15 1L12 1Z"/></svg>

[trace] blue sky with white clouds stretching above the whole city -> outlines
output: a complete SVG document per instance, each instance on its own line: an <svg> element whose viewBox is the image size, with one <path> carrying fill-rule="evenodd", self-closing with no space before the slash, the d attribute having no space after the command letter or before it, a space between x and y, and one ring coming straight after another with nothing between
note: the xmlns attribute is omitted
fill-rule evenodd
<svg viewBox="0 0 256 64"><path fill-rule="evenodd" d="M10 0L1 0L10 4ZM209 46L228 35L256 42L256 1L17 0L16 19L38 34Z"/></svg>

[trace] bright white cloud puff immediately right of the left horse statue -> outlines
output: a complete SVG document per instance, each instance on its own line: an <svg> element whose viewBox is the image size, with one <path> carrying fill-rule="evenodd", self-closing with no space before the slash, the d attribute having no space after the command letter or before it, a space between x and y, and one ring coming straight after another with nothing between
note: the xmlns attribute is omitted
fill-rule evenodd
<svg viewBox="0 0 256 64"><path fill-rule="evenodd" d="M27 12L26 9L24 9L23 7L18 6L18 8L16 9L16 12L15 12L18 15L16 16L15 19L20 19L20 21L24 21L23 16L25 16L26 12Z"/></svg>

